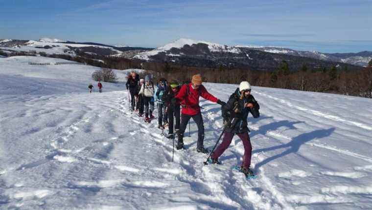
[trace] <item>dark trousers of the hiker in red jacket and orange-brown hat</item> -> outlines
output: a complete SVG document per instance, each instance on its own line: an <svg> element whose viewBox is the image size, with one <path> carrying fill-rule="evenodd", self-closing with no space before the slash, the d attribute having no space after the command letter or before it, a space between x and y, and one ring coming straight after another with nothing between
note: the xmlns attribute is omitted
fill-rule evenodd
<svg viewBox="0 0 372 210"><path fill-rule="evenodd" d="M198 149L201 149L204 147L204 123L203 123L203 117L202 113L199 112L196 115L187 115L182 114L181 115L181 126L180 126L180 133L178 135L178 145L181 145L184 143L184 133L187 127L187 123L192 118L196 125L198 126Z"/></svg>

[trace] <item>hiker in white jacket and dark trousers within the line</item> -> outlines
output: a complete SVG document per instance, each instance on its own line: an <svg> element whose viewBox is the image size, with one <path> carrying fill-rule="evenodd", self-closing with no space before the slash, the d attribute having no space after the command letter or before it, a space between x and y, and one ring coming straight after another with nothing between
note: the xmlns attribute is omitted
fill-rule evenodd
<svg viewBox="0 0 372 210"><path fill-rule="evenodd" d="M151 82L150 77L145 77L145 84L141 86L140 94L143 96L145 106L145 122L150 123L151 119L155 118L152 115L154 111L154 84Z"/></svg>

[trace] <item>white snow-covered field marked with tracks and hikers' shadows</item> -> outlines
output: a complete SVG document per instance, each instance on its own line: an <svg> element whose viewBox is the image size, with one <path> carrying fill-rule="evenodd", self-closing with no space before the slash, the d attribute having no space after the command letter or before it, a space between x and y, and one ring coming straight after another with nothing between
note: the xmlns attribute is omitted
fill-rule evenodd
<svg viewBox="0 0 372 210"><path fill-rule="evenodd" d="M255 180L234 137L222 165L203 165L197 128L175 150L128 110L125 84L103 83L86 65L42 57L0 58L0 209L372 209L371 99L253 87L249 116ZM63 62L63 60L62 60ZM226 101L238 85L205 86ZM220 106L201 100L205 147L221 133ZM155 111L157 116L157 111ZM166 130L165 130L166 132Z"/></svg>

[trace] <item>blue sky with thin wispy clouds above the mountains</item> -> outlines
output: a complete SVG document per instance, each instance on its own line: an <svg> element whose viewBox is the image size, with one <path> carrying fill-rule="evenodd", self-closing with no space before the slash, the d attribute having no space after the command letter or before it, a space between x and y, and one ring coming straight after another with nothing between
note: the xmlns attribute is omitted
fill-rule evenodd
<svg viewBox="0 0 372 210"><path fill-rule="evenodd" d="M372 0L0 0L0 39L372 51Z"/></svg>

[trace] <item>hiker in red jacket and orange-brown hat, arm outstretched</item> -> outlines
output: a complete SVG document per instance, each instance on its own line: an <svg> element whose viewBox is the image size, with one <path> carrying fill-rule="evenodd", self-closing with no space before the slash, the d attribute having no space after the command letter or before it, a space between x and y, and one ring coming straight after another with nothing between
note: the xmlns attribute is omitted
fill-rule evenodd
<svg viewBox="0 0 372 210"><path fill-rule="evenodd" d="M172 100L175 104L176 101L181 102L182 114L181 114L181 126L178 134L178 144L177 149L184 149L184 133L190 118L194 120L198 126L198 144L197 151L208 153L208 150L204 148L204 125L203 118L200 112L199 97L203 97L211 102L217 103L219 105L225 105L225 102L220 101L216 97L212 96L207 89L202 85L202 77L200 74L192 76L190 84L184 84L181 87L180 92Z"/></svg>

